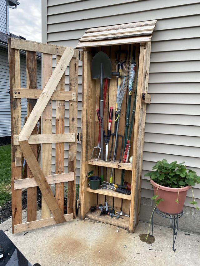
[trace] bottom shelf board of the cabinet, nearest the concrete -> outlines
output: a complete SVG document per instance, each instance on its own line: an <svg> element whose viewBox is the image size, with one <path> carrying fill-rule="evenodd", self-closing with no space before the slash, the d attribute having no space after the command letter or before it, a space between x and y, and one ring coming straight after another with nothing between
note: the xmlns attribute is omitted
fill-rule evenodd
<svg viewBox="0 0 200 266"><path fill-rule="evenodd" d="M92 213L89 211L86 214L86 217L88 217L89 219L92 219L92 220L96 220L96 221L99 221L102 223L109 224L109 225L115 225L115 226L123 227L125 229L129 229L129 217L122 216L123 219L122 218L116 219L115 216L113 218L111 218L108 215L101 215L100 216L100 213L101 213L100 210L96 210Z"/></svg>

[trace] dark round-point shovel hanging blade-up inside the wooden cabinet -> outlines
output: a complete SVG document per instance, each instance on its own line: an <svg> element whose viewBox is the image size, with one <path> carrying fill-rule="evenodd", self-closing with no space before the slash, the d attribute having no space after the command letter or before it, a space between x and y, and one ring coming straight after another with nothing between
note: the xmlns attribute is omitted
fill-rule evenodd
<svg viewBox="0 0 200 266"><path fill-rule="evenodd" d="M100 79L100 148L101 148L101 160L103 160L103 80L105 78L111 79L112 65L110 58L104 52L98 52L92 60L91 65L92 79ZM101 179L103 182L103 167L101 167Z"/></svg>

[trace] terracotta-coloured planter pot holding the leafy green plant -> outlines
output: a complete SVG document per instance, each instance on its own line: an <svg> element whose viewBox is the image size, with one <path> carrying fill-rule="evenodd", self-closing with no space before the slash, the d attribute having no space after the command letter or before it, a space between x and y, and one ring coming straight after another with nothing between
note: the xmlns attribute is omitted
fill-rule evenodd
<svg viewBox="0 0 200 266"><path fill-rule="evenodd" d="M188 189L190 189L191 186L173 188L173 187L166 187L166 186L158 185L151 179L150 179L150 182L153 185L154 195L159 195L158 199L163 198L164 200L158 204L158 207L157 207L158 210L164 213L169 213L169 214L177 214L183 210L183 205L185 202L187 191ZM178 195L178 191L179 191L179 195ZM177 200L177 198L178 198L179 203L175 201Z"/></svg>

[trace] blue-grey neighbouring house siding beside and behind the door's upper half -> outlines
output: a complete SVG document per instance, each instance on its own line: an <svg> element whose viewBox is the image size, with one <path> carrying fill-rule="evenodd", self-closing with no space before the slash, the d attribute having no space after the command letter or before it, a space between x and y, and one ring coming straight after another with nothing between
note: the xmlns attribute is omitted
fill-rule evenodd
<svg viewBox="0 0 200 266"><path fill-rule="evenodd" d="M0 49L0 137L11 135L10 125L10 85L9 85L9 66L8 66L8 51ZM21 87L26 87L26 58L20 56L21 61ZM37 64L37 87L41 89L41 62ZM22 99L22 125L24 116L27 115L27 99Z"/></svg>

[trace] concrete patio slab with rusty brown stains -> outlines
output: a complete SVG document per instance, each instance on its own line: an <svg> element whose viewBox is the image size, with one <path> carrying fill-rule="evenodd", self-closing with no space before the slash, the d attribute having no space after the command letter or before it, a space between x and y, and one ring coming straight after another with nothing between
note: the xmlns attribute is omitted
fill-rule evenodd
<svg viewBox="0 0 200 266"><path fill-rule="evenodd" d="M25 212L23 213L25 216ZM173 229L153 226L155 241L142 242L148 223L139 222L136 231L103 224L90 219L12 234L12 220L0 224L6 235L31 264L64 265L200 265L200 235L178 231L173 246Z"/></svg>

